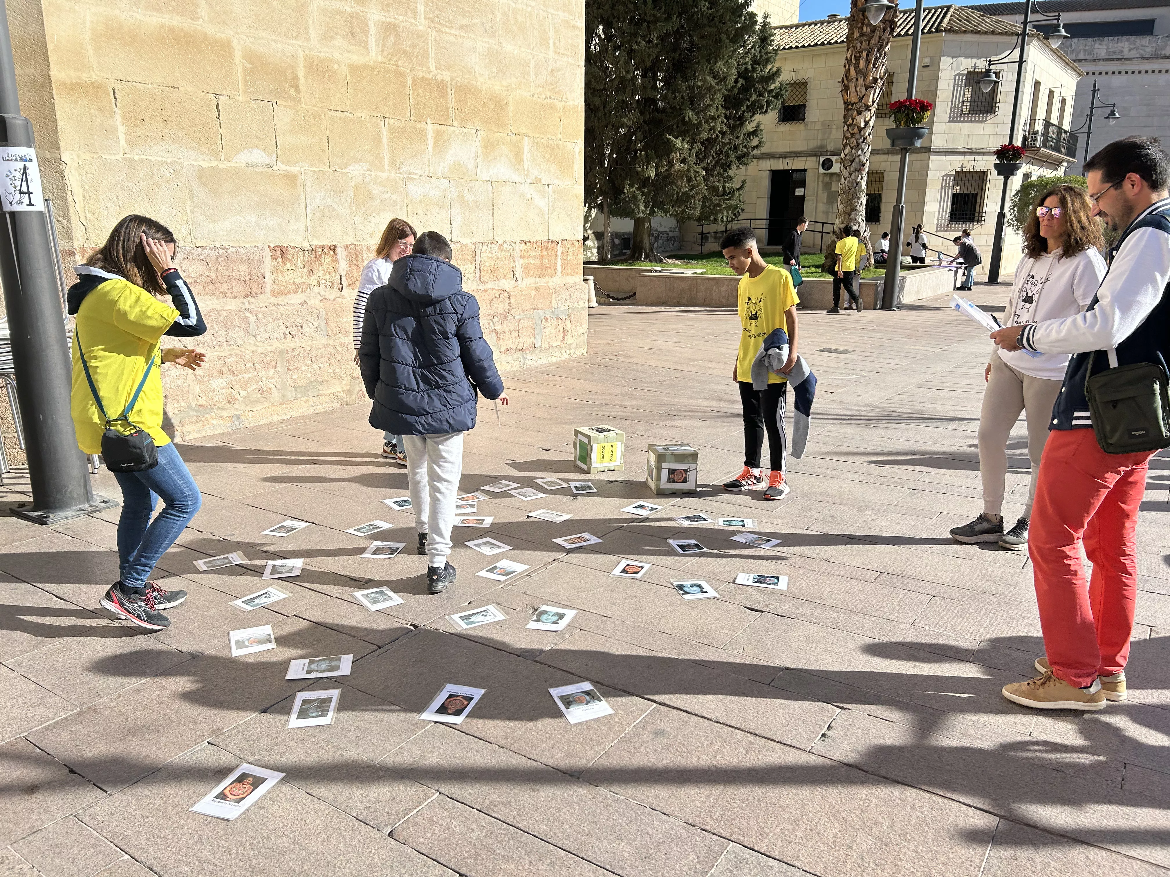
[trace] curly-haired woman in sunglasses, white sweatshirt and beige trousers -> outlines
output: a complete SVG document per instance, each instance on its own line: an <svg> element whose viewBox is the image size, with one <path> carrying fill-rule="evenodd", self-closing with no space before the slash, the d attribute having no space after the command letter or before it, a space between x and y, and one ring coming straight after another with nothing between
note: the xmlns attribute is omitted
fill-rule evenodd
<svg viewBox="0 0 1170 877"><path fill-rule="evenodd" d="M1080 313L1093 301L1104 258L1101 228L1093 217L1093 202L1076 186L1053 186L1032 206L1024 226L1025 256L1016 269L1016 282L1004 311L1009 326ZM987 382L979 414L979 476L983 478L983 513L955 527L961 543L999 543L1003 548L1027 548L1028 520L1040 472L1040 455L1048 440L1052 406L1068 365L1067 353L1009 353L992 347L984 370ZM1027 417L1027 455L1032 482L1024 515L1004 532L1004 483L1007 475L1007 437L1020 412Z"/></svg>

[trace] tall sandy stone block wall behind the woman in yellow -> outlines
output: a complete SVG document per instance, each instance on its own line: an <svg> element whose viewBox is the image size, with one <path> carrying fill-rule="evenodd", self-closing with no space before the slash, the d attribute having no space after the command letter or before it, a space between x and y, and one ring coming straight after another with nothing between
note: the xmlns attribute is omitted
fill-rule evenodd
<svg viewBox="0 0 1170 877"><path fill-rule="evenodd" d="M364 398L386 222L442 233L504 370L585 351L584 0L9 0L66 257L170 226L211 331L187 437Z"/></svg>

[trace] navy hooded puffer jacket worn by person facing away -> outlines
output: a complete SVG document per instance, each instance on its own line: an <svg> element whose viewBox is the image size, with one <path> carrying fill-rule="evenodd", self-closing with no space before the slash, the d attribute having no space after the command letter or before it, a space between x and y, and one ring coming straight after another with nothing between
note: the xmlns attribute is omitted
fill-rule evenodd
<svg viewBox="0 0 1170 877"><path fill-rule="evenodd" d="M462 271L434 256L402 256L370 294L358 360L370 426L394 435L472 429L476 389L488 399L504 392L480 303L463 291Z"/></svg>

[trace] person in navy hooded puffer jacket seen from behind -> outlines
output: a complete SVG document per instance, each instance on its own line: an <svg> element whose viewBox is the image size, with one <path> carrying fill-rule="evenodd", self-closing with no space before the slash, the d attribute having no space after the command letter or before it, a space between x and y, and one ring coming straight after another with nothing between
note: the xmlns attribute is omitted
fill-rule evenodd
<svg viewBox="0 0 1170 877"><path fill-rule="evenodd" d="M358 361L370 426L402 436L418 552L427 589L455 581L450 531L463 470L463 433L475 427L476 396L508 405L491 347L480 329L480 303L463 291L450 244L425 232L414 253L394 263L370 294Z"/></svg>

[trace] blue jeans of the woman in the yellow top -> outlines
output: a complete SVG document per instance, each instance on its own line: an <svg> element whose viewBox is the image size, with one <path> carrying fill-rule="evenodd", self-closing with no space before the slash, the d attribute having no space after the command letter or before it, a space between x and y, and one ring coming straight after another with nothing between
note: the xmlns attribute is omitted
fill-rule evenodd
<svg viewBox="0 0 1170 877"><path fill-rule="evenodd" d="M122 488L118 568L124 587L142 588L163 553L195 517L202 495L174 443L158 449L158 465L143 472L115 472ZM163 511L151 522L154 500Z"/></svg>

